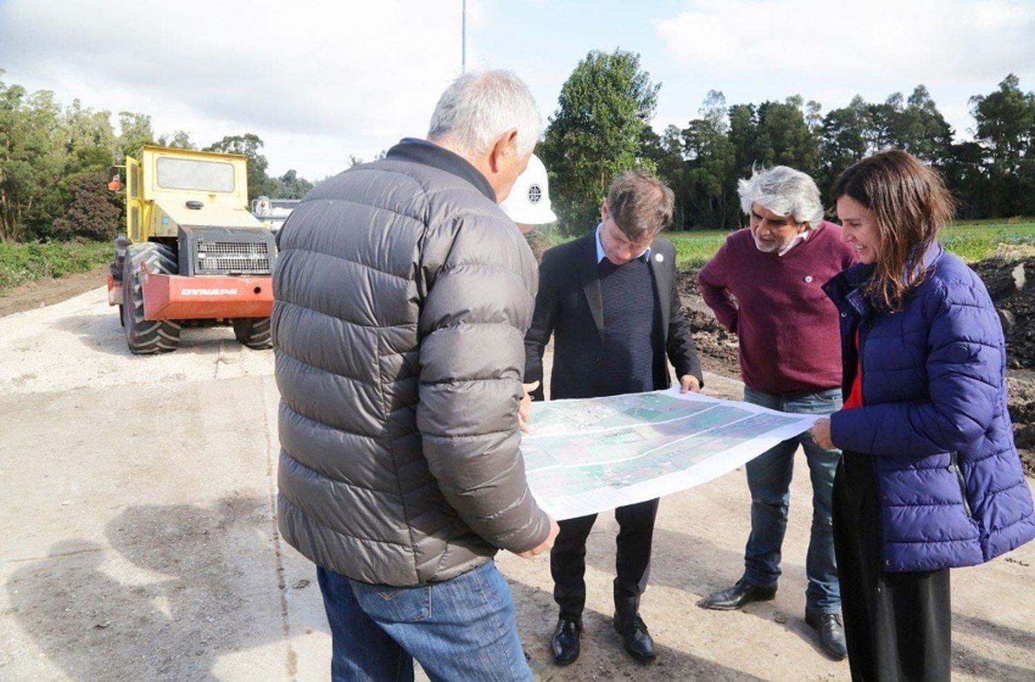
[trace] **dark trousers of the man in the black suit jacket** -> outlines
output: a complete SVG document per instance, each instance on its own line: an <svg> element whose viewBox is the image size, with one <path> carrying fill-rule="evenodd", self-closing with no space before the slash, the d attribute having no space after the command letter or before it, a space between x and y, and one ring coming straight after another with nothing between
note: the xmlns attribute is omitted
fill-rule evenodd
<svg viewBox="0 0 1035 682"><path fill-rule="evenodd" d="M618 522L618 551L615 557L615 613L620 620L640 611L640 595L647 588L651 541L657 500L648 500L615 509ZM554 599L561 618L580 621L586 606L586 538L596 514L559 522L561 532L550 551L550 573L554 577Z"/></svg>

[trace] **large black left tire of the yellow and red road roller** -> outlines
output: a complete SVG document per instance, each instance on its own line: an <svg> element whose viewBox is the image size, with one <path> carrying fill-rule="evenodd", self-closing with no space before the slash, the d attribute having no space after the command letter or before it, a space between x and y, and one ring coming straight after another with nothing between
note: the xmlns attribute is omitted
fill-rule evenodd
<svg viewBox="0 0 1035 682"><path fill-rule="evenodd" d="M122 326L126 345L136 355L168 353L180 345L180 323L175 320L144 319L144 288L140 264L155 274L176 274L176 251L165 244L146 242L126 250L122 270Z"/></svg>

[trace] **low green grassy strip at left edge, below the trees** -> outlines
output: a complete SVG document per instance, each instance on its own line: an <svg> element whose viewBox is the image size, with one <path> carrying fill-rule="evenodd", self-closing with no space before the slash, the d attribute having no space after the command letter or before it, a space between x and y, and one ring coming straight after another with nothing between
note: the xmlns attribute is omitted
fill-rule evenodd
<svg viewBox="0 0 1035 682"><path fill-rule="evenodd" d="M115 256L111 242L0 242L0 294L32 279L63 277L109 263Z"/></svg>

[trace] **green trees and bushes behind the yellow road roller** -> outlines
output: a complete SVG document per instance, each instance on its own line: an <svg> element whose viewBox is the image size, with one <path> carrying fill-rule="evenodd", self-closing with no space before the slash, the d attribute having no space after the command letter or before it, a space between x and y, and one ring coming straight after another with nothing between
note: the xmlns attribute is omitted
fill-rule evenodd
<svg viewBox="0 0 1035 682"><path fill-rule="evenodd" d="M0 76L3 70L0 70ZM151 117L62 107L49 90L29 93L0 80L0 241L102 240L124 230L122 196L108 189L109 171L148 144L198 149L184 130L156 136ZM206 151L248 157L248 199L300 199L313 183L295 171L266 174L258 136L226 136Z"/></svg>

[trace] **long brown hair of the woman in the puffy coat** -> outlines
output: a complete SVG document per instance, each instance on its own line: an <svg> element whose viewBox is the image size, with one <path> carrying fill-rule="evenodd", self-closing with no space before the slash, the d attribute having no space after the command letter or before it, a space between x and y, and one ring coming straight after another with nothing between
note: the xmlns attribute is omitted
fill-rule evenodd
<svg viewBox="0 0 1035 682"><path fill-rule="evenodd" d="M955 203L941 176L899 149L850 166L834 182L833 200L848 196L874 212L881 255L863 292L889 310L927 277L923 257L938 231L952 219Z"/></svg>

